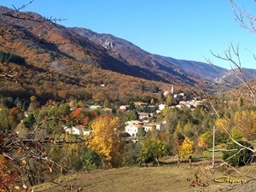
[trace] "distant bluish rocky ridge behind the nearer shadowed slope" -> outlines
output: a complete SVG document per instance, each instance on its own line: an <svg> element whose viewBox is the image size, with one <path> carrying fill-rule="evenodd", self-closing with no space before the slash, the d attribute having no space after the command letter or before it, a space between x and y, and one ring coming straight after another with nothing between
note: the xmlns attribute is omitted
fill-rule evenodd
<svg viewBox="0 0 256 192"><path fill-rule="evenodd" d="M79 27L71 29L94 43L100 44L104 48L113 51L113 53L120 55L133 65L155 69L161 73L178 73L194 78L198 78L198 74L201 78L212 81L221 77L227 71L222 67L212 67L203 62L177 60L172 57L153 55L125 39L116 38L110 34L99 34L92 32L90 29ZM205 73L206 71L207 74Z"/></svg>

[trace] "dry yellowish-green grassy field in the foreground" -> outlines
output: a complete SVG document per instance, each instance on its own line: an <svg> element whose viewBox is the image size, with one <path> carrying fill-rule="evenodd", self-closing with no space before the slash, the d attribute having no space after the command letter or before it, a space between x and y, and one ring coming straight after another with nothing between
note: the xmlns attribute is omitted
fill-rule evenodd
<svg viewBox="0 0 256 192"><path fill-rule="evenodd" d="M166 162L166 165L154 167L125 167L119 169L98 170L93 172L79 172L73 175L59 177L55 182L69 191L93 192L155 192L155 191L255 191L256 182L241 183L215 183L214 178L229 176L234 179L256 178L256 166L239 168L241 174L232 172L230 168L218 166L213 172L210 169L211 161L201 160L183 162L179 167L175 163ZM246 174L247 173L247 174ZM196 178L197 177L197 178ZM199 177L199 178L198 178ZM199 182L200 180L200 182ZM197 181L197 182L195 182ZM195 186L193 187L193 183ZM201 186L198 186L199 185ZM192 185L192 186L191 186ZM44 183L34 188L34 191L62 191L54 183Z"/></svg>

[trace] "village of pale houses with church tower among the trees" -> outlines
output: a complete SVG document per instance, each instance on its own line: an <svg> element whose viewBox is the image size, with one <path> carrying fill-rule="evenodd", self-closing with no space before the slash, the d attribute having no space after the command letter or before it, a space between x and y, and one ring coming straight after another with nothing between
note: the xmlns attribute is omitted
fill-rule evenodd
<svg viewBox="0 0 256 192"><path fill-rule="evenodd" d="M184 96L186 93L180 92L175 93L173 85L171 90L164 91L164 96L172 96L178 103L176 105L168 106L166 104L159 104L159 105L149 105L146 102L134 102L135 108L140 108L143 111L143 108L155 108L154 112L146 113L146 112L137 112L137 119L129 120L125 122L125 132L122 132L122 135L125 137L137 137L139 133L139 129L142 129L144 133L148 131L152 131L154 128L157 131L162 130L163 126L166 125L166 120L163 119L161 122L155 122L155 119L162 111L166 108L189 108L194 110L197 106L202 104L201 97L197 96L194 97L192 100L184 101ZM119 110L122 112L129 112L131 106L130 105L121 105L119 106ZM74 110L75 108L71 108ZM91 105L90 110L95 111L107 111L111 112L111 108L102 108L100 105ZM67 134L73 135L93 135L93 131L86 129L83 125L72 125L72 126L65 126L63 130Z"/></svg>

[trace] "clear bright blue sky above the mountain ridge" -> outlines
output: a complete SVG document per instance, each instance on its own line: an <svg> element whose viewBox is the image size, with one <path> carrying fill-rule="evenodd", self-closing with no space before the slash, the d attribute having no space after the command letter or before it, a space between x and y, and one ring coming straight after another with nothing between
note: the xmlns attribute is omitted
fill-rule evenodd
<svg viewBox="0 0 256 192"><path fill-rule="evenodd" d="M30 0L2 0L20 8ZM253 0L237 5L256 17ZM79 26L124 38L152 54L207 62L230 68L212 55L224 55L230 44L239 44L241 67L256 68L256 34L234 19L230 0L34 0L23 11L67 19L63 26ZM233 57L235 58L235 55Z"/></svg>

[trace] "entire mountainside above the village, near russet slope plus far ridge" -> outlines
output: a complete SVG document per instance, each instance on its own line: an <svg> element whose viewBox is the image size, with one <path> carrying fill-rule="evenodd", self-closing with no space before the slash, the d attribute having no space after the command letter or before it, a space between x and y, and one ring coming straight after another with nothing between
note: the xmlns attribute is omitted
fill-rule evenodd
<svg viewBox="0 0 256 192"><path fill-rule="evenodd" d="M44 17L36 13L22 13L22 17L28 18L26 21L6 16L13 12L12 9L0 7L0 19L5 27L15 32L5 37L7 41L0 50L18 55L26 61L26 65L12 63L8 67L9 70L14 67L26 84L20 88L17 84L7 86L3 82L0 91L5 96L23 96L20 93L24 93L42 99L47 97L44 100L49 97L63 100L78 96L94 101L101 98L101 102L107 96L113 101L126 101L129 100L126 97L135 98L147 94L143 97L152 97L156 86L160 90L168 90L171 84L175 84L177 90L190 90L196 84L195 71L210 81L224 75L218 70L226 72L220 67L215 70L206 63L152 55L125 39L84 28L67 28L45 21ZM16 15L20 16L18 13ZM2 66L1 70L3 73L6 68ZM40 73L50 75L48 79L38 77L30 80ZM106 96L99 93L98 87L101 84L109 85L102 88ZM147 94L142 92L142 86L147 87ZM84 89L85 94L81 94Z"/></svg>

